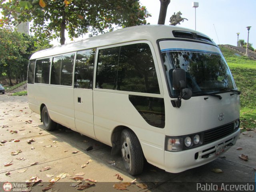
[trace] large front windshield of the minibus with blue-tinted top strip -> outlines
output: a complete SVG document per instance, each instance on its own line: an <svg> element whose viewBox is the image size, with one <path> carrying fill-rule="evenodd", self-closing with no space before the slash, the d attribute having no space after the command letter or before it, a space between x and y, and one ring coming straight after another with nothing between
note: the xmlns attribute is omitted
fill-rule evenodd
<svg viewBox="0 0 256 192"><path fill-rule="evenodd" d="M236 89L223 56L217 52L169 49L162 50L162 59L172 96L179 94L172 86L174 68L186 71L187 88L190 88L194 95L196 92L218 93Z"/></svg>

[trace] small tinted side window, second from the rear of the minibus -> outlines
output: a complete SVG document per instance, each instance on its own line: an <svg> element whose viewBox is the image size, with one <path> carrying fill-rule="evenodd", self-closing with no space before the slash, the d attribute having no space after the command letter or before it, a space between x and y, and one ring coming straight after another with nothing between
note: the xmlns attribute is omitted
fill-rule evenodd
<svg viewBox="0 0 256 192"><path fill-rule="evenodd" d="M36 61L35 83L49 84L50 58Z"/></svg>

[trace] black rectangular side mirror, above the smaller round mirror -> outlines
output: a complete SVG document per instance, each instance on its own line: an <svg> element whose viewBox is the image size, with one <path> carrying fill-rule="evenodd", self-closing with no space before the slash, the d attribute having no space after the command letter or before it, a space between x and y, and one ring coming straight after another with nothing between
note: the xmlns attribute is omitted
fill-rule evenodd
<svg viewBox="0 0 256 192"><path fill-rule="evenodd" d="M172 86L174 89L182 90L186 88L186 72L183 69L174 69L172 72Z"/></svg>

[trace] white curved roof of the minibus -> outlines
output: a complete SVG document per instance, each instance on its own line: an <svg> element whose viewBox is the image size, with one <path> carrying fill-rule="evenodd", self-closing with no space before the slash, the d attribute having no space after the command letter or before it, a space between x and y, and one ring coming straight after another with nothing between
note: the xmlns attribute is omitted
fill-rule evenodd
<svg viewBox="0 0 256 192"><path fill-rule="evenodd" d="M175 36L173 31L184 33ZM101 46L108 46L112 44L131 42L136 40L149 40L150 42L156 42L158 39L166 38L185 38L192 39L187 34L197 34L207 39L208 43L216 45L208 36L188 28L176 27L170 25L140 25L128 28L122 28L114 32L108 32L91 38L82 39L76 42L71 42L61 46L54 46L45 50L38 51L30 57L30 60L37 58L44 58L54 56L58 54L64 54L79 50L85 50L90 48L97 48ZM200 39L205 41L204 39Z"/></svg>

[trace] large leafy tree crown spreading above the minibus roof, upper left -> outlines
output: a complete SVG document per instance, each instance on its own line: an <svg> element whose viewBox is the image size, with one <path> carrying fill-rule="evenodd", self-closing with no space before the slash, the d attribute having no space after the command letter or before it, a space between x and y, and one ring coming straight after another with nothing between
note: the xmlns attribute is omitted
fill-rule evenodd
<svg viewBox="0 0 256 192"><path fill-rule="evenodd" d="M138 0L0 0L4 18L0 25L33 20L31 32L42 39L68 36L77 38L87 33L103 33L116 26L128 27L146 24L151 16Z"/></svg>

